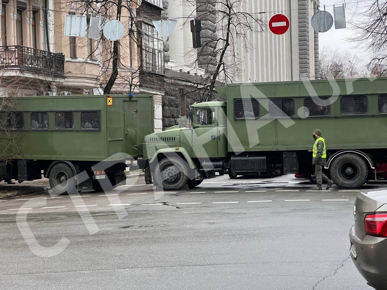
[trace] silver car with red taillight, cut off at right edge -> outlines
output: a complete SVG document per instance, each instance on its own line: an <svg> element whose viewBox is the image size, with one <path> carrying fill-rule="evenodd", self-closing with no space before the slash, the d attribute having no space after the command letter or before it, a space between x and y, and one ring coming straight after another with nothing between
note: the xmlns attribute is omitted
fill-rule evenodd
<svg viewBox="0 0 387 290"><path fill-rule="evenodd" d="M387 290L387 188L361 192L353 214L352 261L369 285Z"/></svg>

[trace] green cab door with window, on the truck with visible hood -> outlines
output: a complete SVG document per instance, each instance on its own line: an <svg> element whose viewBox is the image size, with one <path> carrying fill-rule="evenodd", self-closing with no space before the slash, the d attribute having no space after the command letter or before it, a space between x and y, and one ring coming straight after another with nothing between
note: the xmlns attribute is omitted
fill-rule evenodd
<svg viewBox="0 0 387 290"><path fill-rule="evenodd" d="M192 153L197 158L215 158L218 155L218 127L215 112L215 108L195 108Z"/></svg>

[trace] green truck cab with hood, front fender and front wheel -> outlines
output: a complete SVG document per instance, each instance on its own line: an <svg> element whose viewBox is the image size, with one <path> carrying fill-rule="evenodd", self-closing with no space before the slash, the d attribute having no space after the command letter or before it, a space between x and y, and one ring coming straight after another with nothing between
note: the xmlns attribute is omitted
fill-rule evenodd
<svg viewBox="0 0 387 290"><path fill-rule="evenodd" d="M224 171L228 154L226 102L190 106L186 126L147 135L143 148L139 165L149 164L159 188L189 189L214 177L216 171Z"/></svg>

